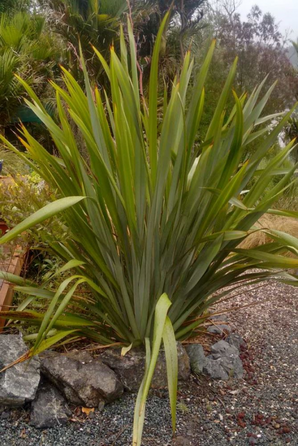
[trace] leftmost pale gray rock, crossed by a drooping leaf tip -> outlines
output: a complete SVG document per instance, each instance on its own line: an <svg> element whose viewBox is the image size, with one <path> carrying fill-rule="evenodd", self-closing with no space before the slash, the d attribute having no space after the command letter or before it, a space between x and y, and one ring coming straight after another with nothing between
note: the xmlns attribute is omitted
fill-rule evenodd
<svg viewBox="0 0 298 446"><path fill-rule="evenodd" d="M19 335L0 335L0 369L28 351ZM40 380L39 359L33 357L0 373L0 406L23 406L35 397Z"/></svg>

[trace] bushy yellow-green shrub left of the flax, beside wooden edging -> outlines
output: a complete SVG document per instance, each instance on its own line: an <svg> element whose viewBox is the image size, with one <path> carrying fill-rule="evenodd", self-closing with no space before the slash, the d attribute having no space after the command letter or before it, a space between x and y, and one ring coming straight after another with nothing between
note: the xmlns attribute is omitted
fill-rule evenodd
<svg viewBox="0 0 298 446"><path fill-rule="evenodd" d="M25 167L28 170L28 165L14 152L0 150L0 158L4 159L3 166L7 169L7 171L4 170L4 174L13 174L8 184L0 182L0 219L8 228L11 228L30 216L32 210L40 209L52 201L54 194L38 174L24 172ZM19 171L26 175L19 175ZM62 267L61 260L50 252L46 238L49 232L55 233L57 240L63 242L68 236L66 231L63 221L54 216L33 230L19 235L10 242L9 250L7 250L7 245L3 252L0 247L0 257L1 259L10 258L17 245L19 254L25 256L22 275L26 280L34 280L40 285L47 282L49 287L56 286L57 283L59 285L65 274L59 273L59 268ZM27 296L20 290L16 291L13 304L22 308L26 298ZM45 311L46 302L35 301L30 307ZM19 328L22 329L22 327ZM22 329L22 332L25 335L35 331L27 326L24 330Z"/></svg>

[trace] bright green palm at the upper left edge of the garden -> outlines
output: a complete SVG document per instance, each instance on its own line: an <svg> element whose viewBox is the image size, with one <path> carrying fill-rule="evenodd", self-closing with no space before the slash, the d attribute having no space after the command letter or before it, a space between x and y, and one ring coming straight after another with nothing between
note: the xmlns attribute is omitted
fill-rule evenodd
<svg viewBox="0 0 298 446"><path fill-rule="evenodd" d="M18 12L0 16L0 123L11 122L25 90L19 74L41 94L57 66L59 48L46 29L44 17Z"/></svg>

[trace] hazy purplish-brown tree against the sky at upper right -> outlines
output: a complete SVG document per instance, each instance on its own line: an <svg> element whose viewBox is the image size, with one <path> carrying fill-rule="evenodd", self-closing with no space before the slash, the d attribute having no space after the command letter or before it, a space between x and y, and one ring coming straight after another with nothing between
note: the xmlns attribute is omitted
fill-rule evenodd
<svg viewBox="0 0 298 446"><path fill-rule="evenodd" d="M233 0L224 0L230 2ZM239 91L252 91L268 75L266 84L278 80L267 107L272 112L287 107L295 99L295 83L292 67L287 56L284 38L275 18L263 14L255 5L246 20L227 8L220 8L212 16L215 35L220 48L223 68L238 56L236 82Z"/></svg>

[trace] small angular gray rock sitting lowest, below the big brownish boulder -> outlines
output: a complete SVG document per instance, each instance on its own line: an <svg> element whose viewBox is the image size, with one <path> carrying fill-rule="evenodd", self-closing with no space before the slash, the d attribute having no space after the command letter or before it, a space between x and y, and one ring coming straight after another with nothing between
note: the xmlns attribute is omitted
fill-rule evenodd
<svg viewBox="0 0 298 446"><path fill-rule="evenodd" d="M31 404L30 424L38 429L66 424L72 412L59 390L49 382L39 385Z"/></svg>

